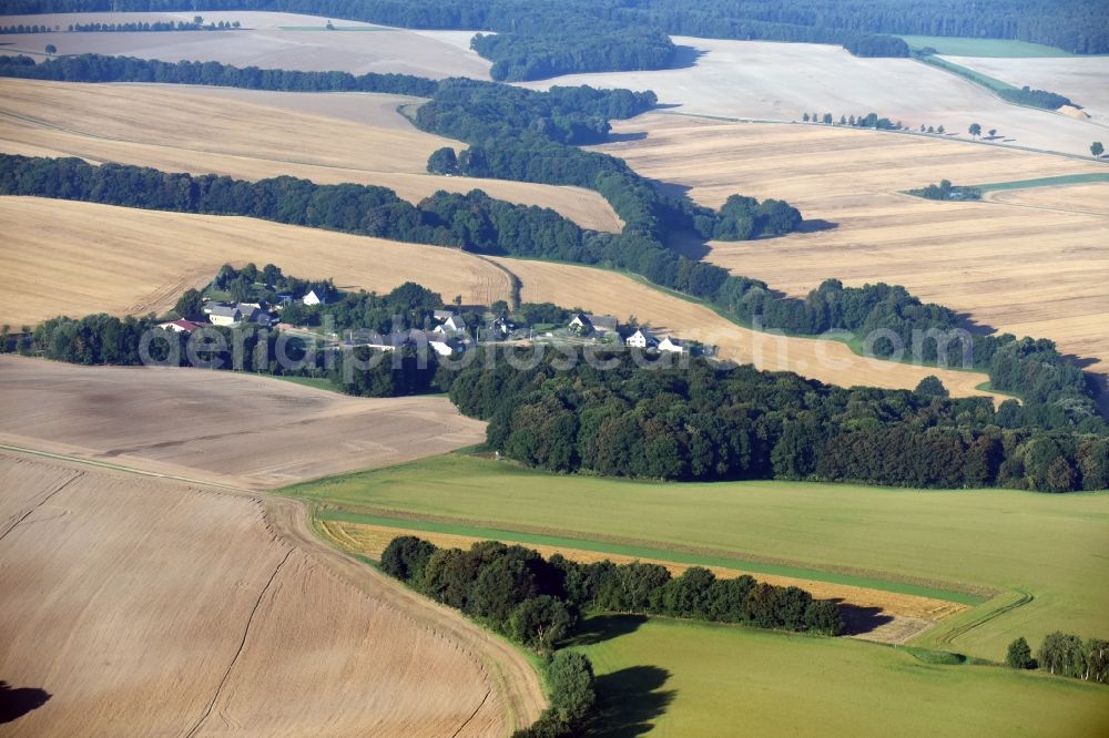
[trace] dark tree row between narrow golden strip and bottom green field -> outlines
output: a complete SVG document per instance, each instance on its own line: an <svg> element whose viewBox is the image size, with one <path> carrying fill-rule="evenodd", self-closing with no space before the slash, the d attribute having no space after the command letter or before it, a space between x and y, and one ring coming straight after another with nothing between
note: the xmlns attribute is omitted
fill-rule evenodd
<svg viewBox="0 0 1109 738"><path fill-rule="evenodd" d="M825 635L838 635L844 628L833 602L746 575L718 580L700 566L673 577L661 564L608 560L581 564L559 554L546 560L533 550L494 541L464 551L399 536L383 552L381 568L539 653L552 652L583 611L746 623Z"/></svg>

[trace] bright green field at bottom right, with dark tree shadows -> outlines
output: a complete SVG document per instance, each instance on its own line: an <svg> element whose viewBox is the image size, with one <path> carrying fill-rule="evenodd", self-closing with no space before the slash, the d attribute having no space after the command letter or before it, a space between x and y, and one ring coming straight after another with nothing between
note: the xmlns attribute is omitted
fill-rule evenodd
<svg viewBox="0 0 1109 738"><path fill-rule="evenodd" d="M633 616L586 622L598 736L1105 736L1109 688L907 649Z"/></svg>

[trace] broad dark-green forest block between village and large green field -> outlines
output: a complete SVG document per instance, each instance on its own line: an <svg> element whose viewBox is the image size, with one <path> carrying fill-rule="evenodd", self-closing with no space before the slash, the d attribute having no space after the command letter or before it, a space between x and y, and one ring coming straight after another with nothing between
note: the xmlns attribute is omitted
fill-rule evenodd
<svg viewBox="0 0 1109 738"><path fill-rule="evenodd" d="M703 359L683 367L668 357L644 367L627 352L586 359L563 351L519 368L479 358L448 378L450 398L489 421L490 448L556 472L1109 488L1109 426L1100 419L1082 431L1046 431L1014 400L995 410L987 398L949 399L935 380L915 392L843 389Z"/></svg>

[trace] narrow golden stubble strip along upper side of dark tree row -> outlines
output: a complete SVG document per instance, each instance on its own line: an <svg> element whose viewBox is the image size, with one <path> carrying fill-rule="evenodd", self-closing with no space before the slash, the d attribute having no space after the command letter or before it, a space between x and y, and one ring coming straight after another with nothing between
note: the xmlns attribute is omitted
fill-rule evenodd
<svg viewBox="0 0 1109 738"><path fill-rule="evenodd" d="M481 539L467 535L456 535L452 533L438 533L424 531L420 529L404 530L393 526L372 525L367 523L353 523L339 520L319 521L321 530L342 549L352 553L360 553L370 558L380 560L381 552L389 542L398 535L415 535L442 549L469 549ZM512 536L506 534L502 539L506 543L512 542ZM564 546L537 545L523 543L529 549L535 549L546 557L553 554L561 554L571 561L581 563L593 563L608 560L617 564L629 564L641 562L644 564L661 564L670 570L674 576L680 576L690 566L658 558L643 558L627 556L621 554L598 553L596 551L584 551L581 549L568 549ZM739 568L728 568L723 566L706 566L713 574L721 578L731 578L741 574L750 574L761 582L770 582L777 586L796 586L810 592L818 599L836 598L844 604L855 608L866 608L881 618L891 618L882 625L861 633L857 637L866 640L877 640L879 643L905 643L942 619L956 615L967 609L966 605L933 599L917 595L883 592L881 590L867 590L848 584L833 584L816 580L802 580L792 576L777 576L773 574L762 574L745 572Z"/></svg>

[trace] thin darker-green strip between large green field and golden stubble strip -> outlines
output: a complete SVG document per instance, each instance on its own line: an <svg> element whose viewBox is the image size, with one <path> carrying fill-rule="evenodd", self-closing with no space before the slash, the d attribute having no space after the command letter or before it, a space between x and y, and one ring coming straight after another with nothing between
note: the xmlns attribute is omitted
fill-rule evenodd
<svg viewBox="0 0 1109 738"><path fill-rule="evenodd" d="M364 523L367 525L378 525L381 527L397 529L398 531L417 531L425 533L444 533L449 535L465 535L468 537L507 541L511 543L527 543L531 545L556 546L561 549L577 549L579 551L590 551L593 553L611 554L619 556L631 556L635 558L657 558L660 561L673 562L675 564L686 564L691 566L720 566L723 568L735 568L754 574L771 574L776 576L790 576L793 578L815 580L828 582L831 584L845 584L867 590L881 590L896 594L916 595L933 599L945 599L957 602L964 605L978 605L986 602L986 597L980 597L964 592L953 592L950 590L939 590L903 582L889 582L885 580L852 576L851 574L840 574L834 572L823 572L815 568L802 566L790 566L785 564L771 564L765 562L745 561L725 556L709 556L702 554L690 554L680 551L668 551L664 549L649 549L638 545L627 545L620 543L609 543L589 541L584 539L562 537L554 535L542 535L537 533L525 533L512 530L476 527L458 523L442 523L427 520L406 520L403 517L388 517L383 515L369 515L354 513L346 510L322 509L316 513L318 520L330 520L345 523Z"/></svg>

